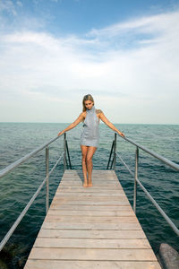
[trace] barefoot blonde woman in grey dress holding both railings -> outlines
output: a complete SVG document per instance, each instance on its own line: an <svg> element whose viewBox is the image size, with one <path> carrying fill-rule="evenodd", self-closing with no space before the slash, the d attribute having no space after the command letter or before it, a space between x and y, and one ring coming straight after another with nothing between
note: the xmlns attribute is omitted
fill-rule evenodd
<svg viewBox="0 0 179 269"><path fill-rule="evenodd" d="M77 126L81 121L83 124L83 132L81 133L81 153L82 153L82 172L84 177L83 187L92 186L92 157L98 147L98 124L101 119L107 126L109 126L116 133L124 136L115 126L108 121L104 113L100 109L95 109L94 100L90 94L84 96L82 100L83 111L81 115L70 125L67 126L63 131L58 133L58 136L64 134ZM88 178L87 178L88 171Z"/></svg>

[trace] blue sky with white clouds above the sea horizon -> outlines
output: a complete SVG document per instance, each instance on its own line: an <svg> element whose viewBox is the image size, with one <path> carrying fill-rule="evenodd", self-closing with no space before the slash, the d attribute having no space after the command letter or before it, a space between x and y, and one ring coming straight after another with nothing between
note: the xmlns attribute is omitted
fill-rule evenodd
<svg viewBox="0 0 179 269"><path fill-rule="evenodd" d="M0 122L179 124L179 0L0 0Z"/></svg>

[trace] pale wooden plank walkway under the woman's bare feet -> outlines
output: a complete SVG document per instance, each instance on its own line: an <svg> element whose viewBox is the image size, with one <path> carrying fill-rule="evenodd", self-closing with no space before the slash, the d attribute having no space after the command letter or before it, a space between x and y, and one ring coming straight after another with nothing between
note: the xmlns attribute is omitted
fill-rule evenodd
<svg viewBox="0 0 179 269"><path fill-rule="evenodd" d="M65 170L25 269L159 269L114 170Z"/></svg>

